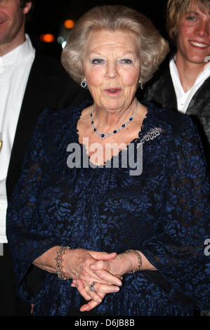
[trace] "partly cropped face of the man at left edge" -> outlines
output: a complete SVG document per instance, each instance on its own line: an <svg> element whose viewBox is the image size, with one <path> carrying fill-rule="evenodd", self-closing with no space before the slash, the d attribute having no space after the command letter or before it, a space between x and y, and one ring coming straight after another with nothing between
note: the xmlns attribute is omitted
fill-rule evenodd
<svg viewBox="0 0 210 330"><path fill-rule="evenodd" d="M22 37L25 14L30 8L30 2L20 8L20 0L0 0L0 46Z"/></svg>

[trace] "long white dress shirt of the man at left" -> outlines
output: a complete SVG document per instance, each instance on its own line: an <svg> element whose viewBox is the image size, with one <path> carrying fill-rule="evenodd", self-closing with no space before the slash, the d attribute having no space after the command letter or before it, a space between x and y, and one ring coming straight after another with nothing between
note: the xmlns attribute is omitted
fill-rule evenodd
<svg viewBox="0 0 210 330"><path fill-rule="evenodd" d="M0 152L0 243L7 243L6 176L22 99L35 56L28 35L25 37L23 44L0 56L0 132L3 135Z"/></svg>

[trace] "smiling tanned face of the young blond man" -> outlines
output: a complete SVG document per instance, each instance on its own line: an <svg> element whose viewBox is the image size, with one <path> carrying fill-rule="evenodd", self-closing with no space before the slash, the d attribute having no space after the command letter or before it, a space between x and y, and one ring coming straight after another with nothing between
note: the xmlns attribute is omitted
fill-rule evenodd
<svg viewBox="0 0 210 330"><path fill-rule="evenodd" d="M178 24L177 56L183 62L206 65L210 56L210 16L192 9Z"/></svg>

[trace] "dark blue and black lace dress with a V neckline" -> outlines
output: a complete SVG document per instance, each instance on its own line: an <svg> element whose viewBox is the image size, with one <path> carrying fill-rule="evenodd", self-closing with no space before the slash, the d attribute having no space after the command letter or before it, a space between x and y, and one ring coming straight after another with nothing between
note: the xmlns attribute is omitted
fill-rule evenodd
<svg viewBox="0 0 210 330"><path fill-rule="evenodd" d="M110 167L67 166L67 145L79 143L77 121L86 104L41 115L7 215L18 295L34 303L34 315L69 315L71 306L81 306L71 279L49 272L34 296L27 292L33 260L56 245L138 249L157 268L124 275L120 291L95 309L98 315L210 309L209 178L199 136L189 117L145 105L147 117L131 142L143 143L139 176L120 166L122 152L118 169L113 159Z"/></svg>

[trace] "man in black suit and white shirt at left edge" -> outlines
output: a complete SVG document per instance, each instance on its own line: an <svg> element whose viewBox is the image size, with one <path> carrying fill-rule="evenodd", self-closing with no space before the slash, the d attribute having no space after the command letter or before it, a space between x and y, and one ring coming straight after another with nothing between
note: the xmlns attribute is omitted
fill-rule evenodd
<svg viewBox="0 0 210 330"><path fill-rule="evenodd" d="M15 296L6 240L6 206L20 176L22 160L39 114L46 107L79 105L90 98L60 62L34 50L25 34L32 0L0 1L0 315L29 315L30 306Z"/></svg>

